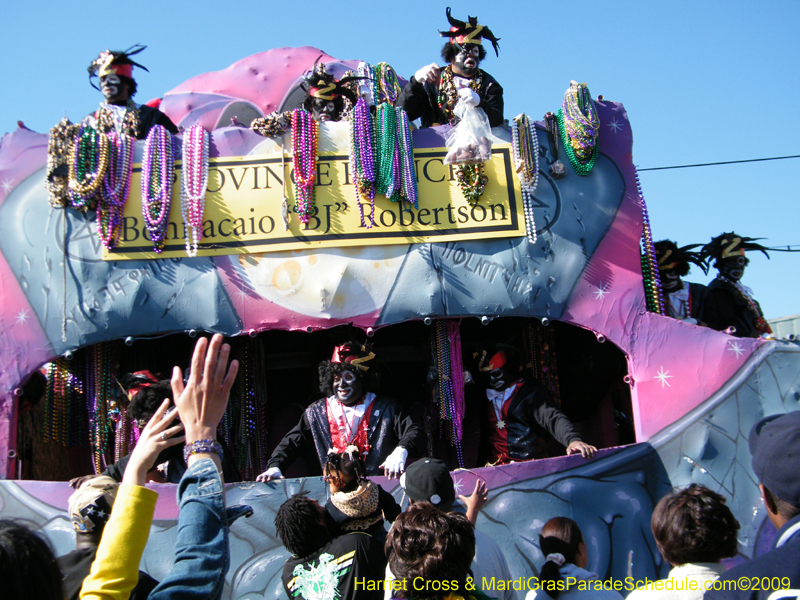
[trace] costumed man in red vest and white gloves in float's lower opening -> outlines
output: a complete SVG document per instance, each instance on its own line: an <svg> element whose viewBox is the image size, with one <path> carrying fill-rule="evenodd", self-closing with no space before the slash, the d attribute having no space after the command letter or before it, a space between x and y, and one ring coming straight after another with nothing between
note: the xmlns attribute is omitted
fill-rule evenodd
<svg viewBox="0 0 800 600"><path fill-rule="evenodd" d="M425 450L425 434L402 408L367 388L374 385L375 354L365 346L346 343L319 365L320 391L326 397L309 406L300 422L278 444L257 481L283 477L283 471L307 448L316 450L320 467L328 451L356 446L367 475L399 477L409 455ZM370 370L372 369L372 372Z"/></svg>

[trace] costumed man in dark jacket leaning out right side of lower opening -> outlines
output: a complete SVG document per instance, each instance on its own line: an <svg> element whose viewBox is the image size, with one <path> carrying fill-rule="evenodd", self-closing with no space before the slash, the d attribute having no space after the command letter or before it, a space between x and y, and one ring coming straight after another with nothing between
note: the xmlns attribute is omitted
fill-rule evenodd
<svg viewBox="0 0 800 600"><path fill-rule="evenodd" d="M550 436L567 449L567 454L594 457L597 448L581 440L547 388L535 378L522 375L515 348L498 345L484 352L478 369L486 376L487 438L492 464L546 458Z"/></svg>

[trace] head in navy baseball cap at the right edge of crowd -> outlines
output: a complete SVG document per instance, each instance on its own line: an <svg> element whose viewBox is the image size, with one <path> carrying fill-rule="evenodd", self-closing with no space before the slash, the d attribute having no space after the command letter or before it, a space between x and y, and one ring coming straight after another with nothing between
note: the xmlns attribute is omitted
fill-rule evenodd
<svg viewBox="0 0 800 600"><path fill-rule="evenodd" d="M761 419L749 441L767 515L780 529L800 515L800 411Z"/></svg>

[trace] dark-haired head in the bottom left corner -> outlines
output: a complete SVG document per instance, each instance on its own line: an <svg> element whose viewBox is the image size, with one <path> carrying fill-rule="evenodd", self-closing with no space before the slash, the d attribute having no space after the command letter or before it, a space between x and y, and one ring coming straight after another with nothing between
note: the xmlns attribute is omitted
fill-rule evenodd
<svg viewBox="0 0 800 600"><path fill-rule="evenodd" d="M49 544L9 519L0 520L0 585L4 600L64 600L61 571Z"/></svg>

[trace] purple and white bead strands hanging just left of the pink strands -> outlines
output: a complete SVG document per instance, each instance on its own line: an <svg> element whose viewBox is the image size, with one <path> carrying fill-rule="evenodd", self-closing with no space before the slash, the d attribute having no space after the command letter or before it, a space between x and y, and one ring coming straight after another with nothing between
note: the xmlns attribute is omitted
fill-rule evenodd
<svg viewBox="0 0 800 600"><path fill-rule="evenodd" d="M144 143L142 214L153 250L158 253L164 249L167 237L174 162L172 134L161 125L154 125Z"/></svg>

